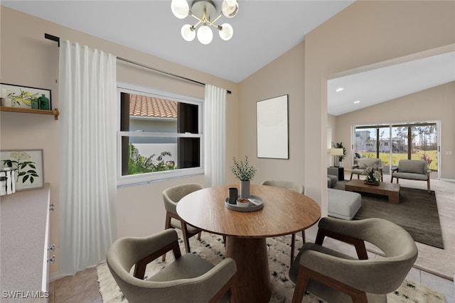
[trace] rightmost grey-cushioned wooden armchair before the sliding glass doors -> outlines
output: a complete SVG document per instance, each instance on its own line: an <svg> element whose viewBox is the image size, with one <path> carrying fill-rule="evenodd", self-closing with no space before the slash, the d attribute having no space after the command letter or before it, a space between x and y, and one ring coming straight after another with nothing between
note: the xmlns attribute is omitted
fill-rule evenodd
<svg viewBox="0 0 455 303"><path fill-rule="evenodd" d="M392 178L390 182L393 182L393 178L397 179L408 179L408 180L420 180L427 181L427 191L431 192L429 185L429 174L432 170L427 168L427 161L425 160L400 160L398 167L392 168Z"/></svg>

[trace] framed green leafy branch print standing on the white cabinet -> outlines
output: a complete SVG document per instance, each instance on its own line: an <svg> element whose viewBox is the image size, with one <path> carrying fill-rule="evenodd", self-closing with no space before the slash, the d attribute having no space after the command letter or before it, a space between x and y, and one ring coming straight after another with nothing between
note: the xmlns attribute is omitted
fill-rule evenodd
<svg viewBox="0 0 455 303"><path fill-rule="evenodd" d="M43 150L0 150L0 170L11 168L16 192L44 186Z"/></svg>

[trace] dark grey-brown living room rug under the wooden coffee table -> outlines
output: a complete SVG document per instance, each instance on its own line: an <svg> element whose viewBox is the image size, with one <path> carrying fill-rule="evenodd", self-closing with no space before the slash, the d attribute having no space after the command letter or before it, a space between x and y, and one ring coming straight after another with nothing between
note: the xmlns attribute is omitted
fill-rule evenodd
<svg viewBox="0 0 455 303"><path fill-rule="evenodd" d="M344 190L347 182L340 181L333 188ZM434 191L401 187L400 204L388 203L385 196L361 194L362 207L354 219L387 219L405 228L414 241L444 249Z"/></svg>

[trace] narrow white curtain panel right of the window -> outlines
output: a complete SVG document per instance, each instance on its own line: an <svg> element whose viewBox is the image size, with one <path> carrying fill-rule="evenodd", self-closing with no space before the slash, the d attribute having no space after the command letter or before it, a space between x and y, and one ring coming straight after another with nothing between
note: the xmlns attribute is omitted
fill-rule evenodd
<svg viewBox="0 0 455 303"><path fill-rule="evenodd" d="M225 184L226 94L220 87L205 84L204 170L205 187Z"/></svg>

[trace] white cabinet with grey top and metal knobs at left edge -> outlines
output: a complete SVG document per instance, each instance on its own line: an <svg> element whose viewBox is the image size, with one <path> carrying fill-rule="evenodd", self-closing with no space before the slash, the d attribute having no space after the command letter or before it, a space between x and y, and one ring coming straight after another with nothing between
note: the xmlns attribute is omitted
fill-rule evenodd
<svg viewBox="0 0 455 303"><path fill-rule="evenodd" d="M0 198L0 302L48 302L50 188Z"/></svg>

